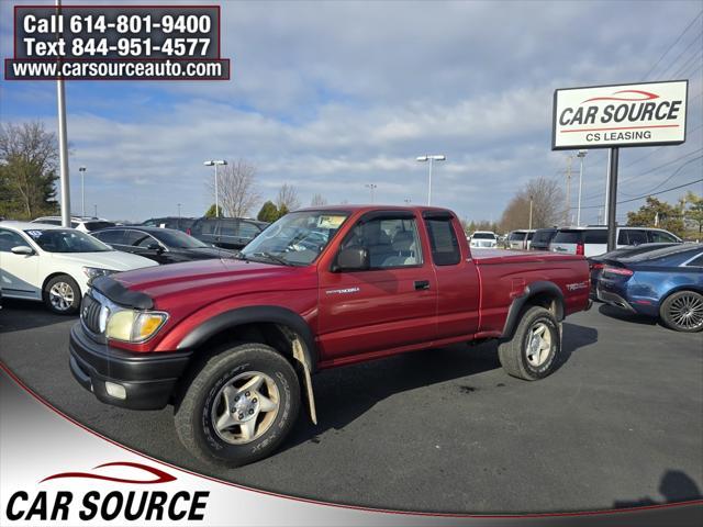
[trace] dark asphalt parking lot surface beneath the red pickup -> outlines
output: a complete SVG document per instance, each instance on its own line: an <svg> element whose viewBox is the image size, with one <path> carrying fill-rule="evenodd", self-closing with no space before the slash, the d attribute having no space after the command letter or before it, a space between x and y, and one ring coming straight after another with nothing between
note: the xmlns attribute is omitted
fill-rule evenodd
<svg viewBox="0 0 703 527"><path fill-rule="evenodd" d="M180 445L172 410L99 403L68 369L76 322L5 300L0 359L46 401L155 458L244 485L371 507L454 513L590 511L703 497L703 334L596 304L563 325L565 360L525 382L494 344L397 356L314 379L269 459L236 470Z"/></svg>

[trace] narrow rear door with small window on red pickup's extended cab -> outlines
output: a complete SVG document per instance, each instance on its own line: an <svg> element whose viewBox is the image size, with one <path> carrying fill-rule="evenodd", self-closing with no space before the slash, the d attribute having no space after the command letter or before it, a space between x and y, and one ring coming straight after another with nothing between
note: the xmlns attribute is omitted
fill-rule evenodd
<svg viewBox="0 0 703 527"><path fill-rule="evenodd" d="M480 282L468 245L459 242L464 229L448 211L425 211L423 222L437 283L437 340L471 337L479 327Z"/></svg>

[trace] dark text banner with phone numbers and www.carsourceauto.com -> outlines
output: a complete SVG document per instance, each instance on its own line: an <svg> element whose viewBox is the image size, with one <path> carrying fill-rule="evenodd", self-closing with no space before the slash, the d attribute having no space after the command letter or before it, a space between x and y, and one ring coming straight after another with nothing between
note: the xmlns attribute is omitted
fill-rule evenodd
<svg viewBox="0 0 703 527"><path fill-rule="evenodd" d="M227 80L220 7L15 5L5 79L59 77Z"/></svg>

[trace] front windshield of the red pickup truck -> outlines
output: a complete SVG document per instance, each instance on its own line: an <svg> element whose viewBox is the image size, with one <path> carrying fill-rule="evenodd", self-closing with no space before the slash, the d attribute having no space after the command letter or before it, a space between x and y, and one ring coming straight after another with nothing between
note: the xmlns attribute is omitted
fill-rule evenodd
<svg viewBox="0 0 703 527"><path fill-rule="evenodd" d="M338 211L291 212L254 238L241 257L306 266L315 261L348 215Z"/></svg>

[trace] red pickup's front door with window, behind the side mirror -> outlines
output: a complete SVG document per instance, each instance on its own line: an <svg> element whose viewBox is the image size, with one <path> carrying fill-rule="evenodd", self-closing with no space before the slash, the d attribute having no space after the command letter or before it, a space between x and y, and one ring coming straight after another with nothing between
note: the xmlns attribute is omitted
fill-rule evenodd
<svg viewBox="0 0 703 527"><path fill-rule="evenodd" d="M335 261L341 250L362 248L368 268L320 269L323 361L353 361L353 356L434 340L437 284L419 227L412 212L367 213L341 242Z"/></svg>

